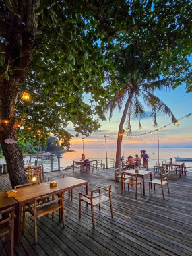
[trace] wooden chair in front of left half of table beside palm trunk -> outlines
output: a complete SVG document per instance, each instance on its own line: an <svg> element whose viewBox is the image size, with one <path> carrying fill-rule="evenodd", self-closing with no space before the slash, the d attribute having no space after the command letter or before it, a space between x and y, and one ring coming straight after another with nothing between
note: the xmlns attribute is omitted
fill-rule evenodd
<svg viewBox="0 0 192 256"><path fill-rule="evenodd" d="M125 189L125 184L127 184L128 191L129 191L129 185L135 186L135 199L137 199L137 187L140 184L141 194L142 194L142 183L141 181L138 181L136 174L127 174L127 173L121 173L121 194L123 194L123 189Z"/></svg>

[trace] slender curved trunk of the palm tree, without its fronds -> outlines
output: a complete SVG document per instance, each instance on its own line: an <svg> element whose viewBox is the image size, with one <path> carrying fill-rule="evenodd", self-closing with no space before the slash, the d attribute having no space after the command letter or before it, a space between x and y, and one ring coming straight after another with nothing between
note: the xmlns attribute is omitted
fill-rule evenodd
<svg viewBox="0 0 192 256"><path fill-rule="evenodd" d="M125 123L125 119L127 117L127 111L129 109L129 105L131 104L133 94L129 94L129 98L127 99L127 102L125 104L125 108L123 110L123 115L121 117L121 121L119 123L119 131L117 135L117 148L116 148L116 161L115 161L115 168L119 168L121 166L121 143L123 139L123 125Z"/></svg>

